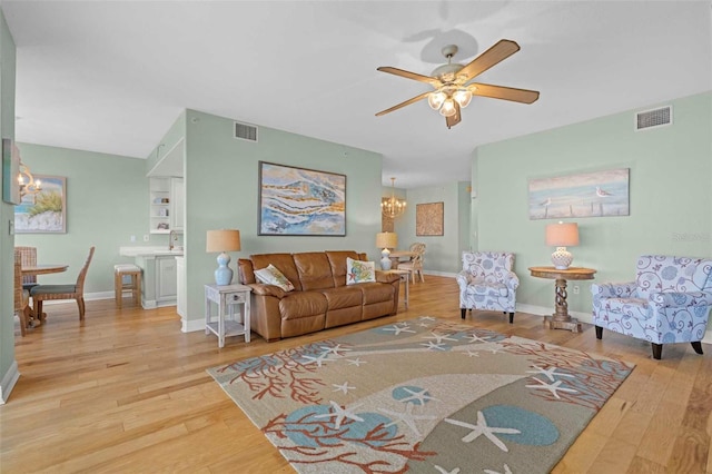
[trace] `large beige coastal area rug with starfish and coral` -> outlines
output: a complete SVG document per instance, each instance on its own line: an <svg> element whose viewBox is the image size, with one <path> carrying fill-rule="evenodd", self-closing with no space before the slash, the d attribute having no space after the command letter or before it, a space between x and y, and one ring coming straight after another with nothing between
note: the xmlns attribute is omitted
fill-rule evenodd
<svg viewBox="0 0 712 474"><path fill-rule="evenodd" d="M632 364L429 316L209 368L299 473L547 473Z"/></svg>

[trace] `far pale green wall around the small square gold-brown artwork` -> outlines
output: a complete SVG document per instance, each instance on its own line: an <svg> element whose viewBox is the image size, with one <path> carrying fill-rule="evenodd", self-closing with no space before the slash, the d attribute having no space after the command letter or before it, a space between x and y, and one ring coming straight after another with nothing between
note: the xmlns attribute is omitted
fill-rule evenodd
<svg viewBox="0 0 712 474"><path fill-rule="evenodd" d="M411 244L422 241L426 245L423 267L426 271L453 274L459 269L461 229L459 206L461 187L458 182L443 186L408 189L407 210L398 223L398 247L407 249ZM443 203L443 236L416 236L415 216L418 204Z"/></svg>

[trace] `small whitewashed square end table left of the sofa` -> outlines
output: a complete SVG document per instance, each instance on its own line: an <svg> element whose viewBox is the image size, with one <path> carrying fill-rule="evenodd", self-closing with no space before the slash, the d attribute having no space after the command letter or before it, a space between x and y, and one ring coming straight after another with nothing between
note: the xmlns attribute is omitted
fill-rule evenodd
<svg viewBox="0 0 712 474"><path fill-rule="evenodd" d="M245 335L245 342L249 343L249 295L253 289L245 285L206 285L205 286L205 334L218 336L218 347L225 346L225 338L229 336ZM210 307L212 303L218 306L217 320L212 319ZM243 322L235 318L235 305L243 305ZM225 317L225 310L229 317Z"/></svg>

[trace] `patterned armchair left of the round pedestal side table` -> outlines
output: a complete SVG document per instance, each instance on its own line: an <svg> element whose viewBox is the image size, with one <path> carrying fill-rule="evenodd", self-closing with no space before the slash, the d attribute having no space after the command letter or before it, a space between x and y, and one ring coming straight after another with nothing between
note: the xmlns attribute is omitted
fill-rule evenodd
<svg viewBox="0 0 712 474"><path fill-rule="evenodd" d="M462 318L469 309L510 313L514 323L516 288L520 278L512 270L514 254L504 251L463 251L463 269L457 274Z"/></svg>

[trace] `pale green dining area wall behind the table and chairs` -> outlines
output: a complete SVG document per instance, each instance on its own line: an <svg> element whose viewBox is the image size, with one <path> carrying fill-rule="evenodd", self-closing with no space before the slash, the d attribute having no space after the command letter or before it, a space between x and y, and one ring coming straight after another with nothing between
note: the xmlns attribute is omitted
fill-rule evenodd
<svg viewBox="0 0 712 474"><path fill-rule="evenodd" d="M16 235L17 245L37 247L38 260L69 264L66 273L41 276L41 283L73 282L93 245L85 290L110 292L113 265L132 263L119 256L119 247L167 245L165 235L144 241L149 227L144 159L30 144L19 148L33 174L67 177L67 234Z"/></svg>

